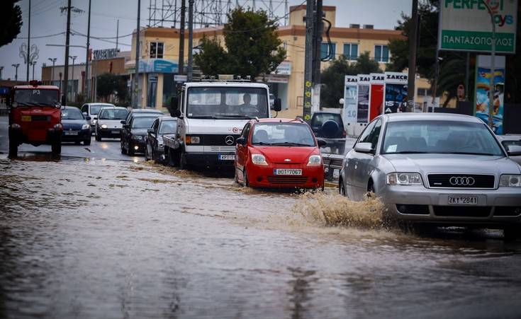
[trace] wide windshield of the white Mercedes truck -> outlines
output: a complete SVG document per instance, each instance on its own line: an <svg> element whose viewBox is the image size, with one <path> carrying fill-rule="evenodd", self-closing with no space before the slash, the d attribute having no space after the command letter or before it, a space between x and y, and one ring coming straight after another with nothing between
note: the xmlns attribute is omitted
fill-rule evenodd
<svg viewBox="0 0 521 319"><path fill-rule="evenodd" d="M189 88L186 116L215 119L268 117L268 102L264 88Z"/></svg>

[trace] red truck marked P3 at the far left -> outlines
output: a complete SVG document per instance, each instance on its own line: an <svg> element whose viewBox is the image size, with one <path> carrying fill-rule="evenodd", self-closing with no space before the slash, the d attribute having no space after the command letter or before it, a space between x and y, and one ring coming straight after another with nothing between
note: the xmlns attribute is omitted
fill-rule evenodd
<svg viewBox="0 0 521 319"><path fill-rule="evenodd" d="M52 153L62 151L60 89L30 81L15 86L7 104L9 110L9 156L16 157L20 144L50 144Z"/></svg>

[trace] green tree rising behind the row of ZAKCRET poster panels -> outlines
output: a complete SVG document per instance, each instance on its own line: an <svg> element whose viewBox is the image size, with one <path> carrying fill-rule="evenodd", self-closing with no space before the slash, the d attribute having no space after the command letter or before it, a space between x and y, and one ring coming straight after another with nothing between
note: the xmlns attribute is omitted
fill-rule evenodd
<svg viewBox="0 0 521 319"><path fill-rule="evenodd" d="M338 57L327 69L320 73L320 106L341 108L338 103L344 97L344 76L357 74L381 73L378 62L369 57L369 52L360 54L355 63L349 63L343 56Z"/></svg>

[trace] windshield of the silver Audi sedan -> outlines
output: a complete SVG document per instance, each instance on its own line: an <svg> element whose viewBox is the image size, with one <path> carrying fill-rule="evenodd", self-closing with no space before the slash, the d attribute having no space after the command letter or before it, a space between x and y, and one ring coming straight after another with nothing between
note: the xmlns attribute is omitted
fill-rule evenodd
<svg viewBox="0 0 521 319"><path fill-rule="evenodd" d="M457 121L388 122L381 153L505 156L484 123Z"/></svg>

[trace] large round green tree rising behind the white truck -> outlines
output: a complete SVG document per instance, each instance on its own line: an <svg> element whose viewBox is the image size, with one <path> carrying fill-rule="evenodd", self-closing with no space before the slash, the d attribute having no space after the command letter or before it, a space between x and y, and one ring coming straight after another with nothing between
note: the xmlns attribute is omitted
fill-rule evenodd
<svg viewBox="0 0 521 319"><path fill-rule="evenodd" d="M257 78L274 71L286 59L276 34L277 23L266 11L236 8L223 28L225 48L215 39L203 38L194 60L203 74L237 74Z"/></svg>

